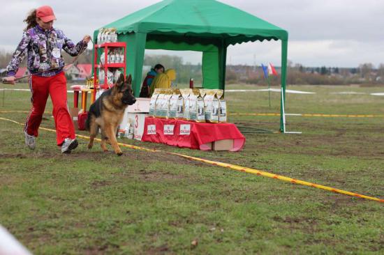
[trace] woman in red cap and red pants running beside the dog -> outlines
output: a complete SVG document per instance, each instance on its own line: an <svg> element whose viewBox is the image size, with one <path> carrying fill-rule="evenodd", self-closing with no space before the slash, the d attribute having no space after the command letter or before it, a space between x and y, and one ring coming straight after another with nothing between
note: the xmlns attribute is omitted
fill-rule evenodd
<svg viewBox="0 0 384 255"><path fill-rule="evenodd" d="M75 45L66 38L63 31L52 27L54 20L56 17L50 6L41 6L29 13L24 20L27 28L24 29L22 40L7 66L8 77L5 78L5 82L15 84L15 73L22 59L27 55L27 68L31 73L29 88L32 93L32 108L24 126L25 144L31 149L35 148L38 127L50 95L57 145L61 146L61 153L71 153L71 150L77 147L77 140L68 112L66 77L63 72L65 64L61 49L71 56L77 56L87 49L87 43L91 37L84 36Z"/></svg>

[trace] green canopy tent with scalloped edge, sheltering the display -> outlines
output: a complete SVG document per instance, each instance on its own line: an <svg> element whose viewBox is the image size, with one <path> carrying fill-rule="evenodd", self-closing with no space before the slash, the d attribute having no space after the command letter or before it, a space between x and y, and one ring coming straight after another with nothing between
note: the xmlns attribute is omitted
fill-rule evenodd
<svg viewBox="0 0 384 255"><path fill-rule="evenodd" d="M288 33L269 22L214 0L164 0L103 27L116 28L127 44L126 72L140 93L145 49L202 52L202 86L225 89L229 45L256 40L281 40L281 121L286 90ZM98 30L94 31L97 38Z"/></svg>

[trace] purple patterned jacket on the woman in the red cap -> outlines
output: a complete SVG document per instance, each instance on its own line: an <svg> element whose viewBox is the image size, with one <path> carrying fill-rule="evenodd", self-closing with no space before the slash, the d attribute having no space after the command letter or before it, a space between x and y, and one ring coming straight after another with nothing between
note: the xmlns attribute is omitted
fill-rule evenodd
<svg viewBox="0 0 384 255"><path fill-rule="evenodd" d="M65 65L61 49L71 56L77 56L87 49L87 43L81 40L75 45L59 29L44 30L40 26L28 29L24 31L22 40L6 68L7 75L15 76L27 54L27 67L32 75L36 72L40 72L36 75L42 77L57 75Z"/></svg>

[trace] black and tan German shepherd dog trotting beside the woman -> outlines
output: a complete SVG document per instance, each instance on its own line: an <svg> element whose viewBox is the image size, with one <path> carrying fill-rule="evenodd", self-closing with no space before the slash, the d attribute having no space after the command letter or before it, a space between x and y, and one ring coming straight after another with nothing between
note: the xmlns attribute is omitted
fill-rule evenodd
<svg viewBox="0 0 384 255"><path fill-rule="evenodd" d="M124 80L124 75L120 75L115 86L105 91L101 96L89 107L87 121L85 123L91 139L88 148L94 146L94 139L101 129L101 148L108 151L105 143L111 144L117 155L123 155L116 140L117 127L121 123L124 111L128 105L136 102L132 95L131 88L132 77Z"/></svg>

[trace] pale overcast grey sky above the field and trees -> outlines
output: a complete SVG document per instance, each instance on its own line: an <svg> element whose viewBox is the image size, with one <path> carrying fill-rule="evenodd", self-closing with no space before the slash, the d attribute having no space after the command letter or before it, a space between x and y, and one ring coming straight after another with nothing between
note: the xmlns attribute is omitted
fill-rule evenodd
<svg viewBox="0 0 384 255"><path fill-rule="evenodd" d="M304 66L357 67L384 63L384 1L382 0L220 0L288 31L288 59ZM78 41L82 36L157 0L38 1L0 0L0 49L13 52L20 42L29 10L50 5L54 27ZM91 46L90 46L91 47ZM200 63L196 52L146 50L146 54L182 56ZM227 63L281 63L281 42L247 42L228 47Z"/></svg>

